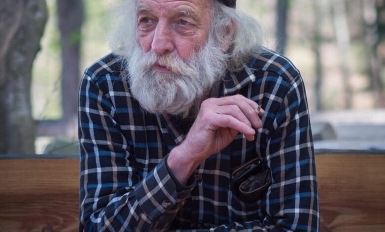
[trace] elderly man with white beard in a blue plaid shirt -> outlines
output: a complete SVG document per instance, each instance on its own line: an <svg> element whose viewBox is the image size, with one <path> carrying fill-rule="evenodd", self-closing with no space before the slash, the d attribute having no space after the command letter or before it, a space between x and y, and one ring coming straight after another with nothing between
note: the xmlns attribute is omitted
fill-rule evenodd
<svg viewBox="0 0 385 232"><path fill-rule="evenodd" d="M318 231L304 83L235 0L126 0L79 90L80 231Z"/></svg>

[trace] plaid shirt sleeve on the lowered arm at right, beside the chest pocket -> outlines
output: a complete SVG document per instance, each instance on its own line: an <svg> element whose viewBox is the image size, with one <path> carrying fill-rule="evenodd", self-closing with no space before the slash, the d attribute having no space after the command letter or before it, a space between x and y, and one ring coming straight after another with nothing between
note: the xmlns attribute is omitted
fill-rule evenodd
<svg viewBox="0 0 385 232"><path fill-rule="evenodd" d="M221 225L210 231L319 231L315 159L308 103L300 76L293 81L276 112L266 157L272 184L260 204L265 218Z"/></svg>

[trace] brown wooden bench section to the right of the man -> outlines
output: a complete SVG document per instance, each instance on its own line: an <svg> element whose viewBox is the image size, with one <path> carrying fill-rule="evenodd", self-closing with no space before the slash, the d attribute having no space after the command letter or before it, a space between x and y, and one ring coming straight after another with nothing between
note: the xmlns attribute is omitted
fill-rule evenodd
<svg viewBox="0 0 385 232"><path fill-rule="evenodd" d="M385 154L316 155L322 231L385 231Z"/></svg>

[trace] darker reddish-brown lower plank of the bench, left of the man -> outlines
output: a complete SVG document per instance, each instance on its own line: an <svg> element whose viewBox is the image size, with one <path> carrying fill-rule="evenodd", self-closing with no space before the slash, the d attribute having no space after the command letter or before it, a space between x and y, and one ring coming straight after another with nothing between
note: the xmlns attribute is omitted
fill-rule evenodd
<svg viewBox="0 0 385 232"><path fill-rule="evenodd" d="M0 232L77 232L79 195L0 195Z"/></svg>

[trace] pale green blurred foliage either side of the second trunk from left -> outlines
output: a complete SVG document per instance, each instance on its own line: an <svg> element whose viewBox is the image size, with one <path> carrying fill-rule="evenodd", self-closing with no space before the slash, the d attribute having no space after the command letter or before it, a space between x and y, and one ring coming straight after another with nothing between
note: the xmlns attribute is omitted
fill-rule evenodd
<svg viewBox="0 0 385 232"><path fill-rule="evenodd" d="M48 22L41 40L41 50L35 60L32 82L32 108L35 119L59 119L61 108L60 70L61 46L56 0L47 0ZM108 2L84 0L85 21L74 31L70 41L81 41L81 72L108 52L104 19Z"/></svg>

